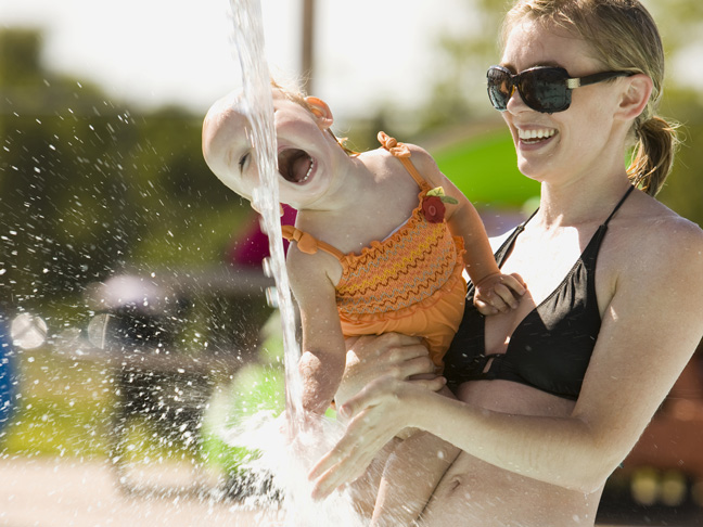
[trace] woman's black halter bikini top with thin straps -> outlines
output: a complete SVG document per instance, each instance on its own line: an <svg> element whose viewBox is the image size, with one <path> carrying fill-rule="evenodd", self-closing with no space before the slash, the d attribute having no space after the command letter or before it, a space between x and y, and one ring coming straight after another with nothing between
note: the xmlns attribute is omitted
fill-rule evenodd
<svg viewBox="0 0 703 527"><path fill-rule="evenodd" d="M485 318L473 305L474 287L469 284L463 320L444 358L444 375L452 390L466 381L502 378L565 399L578 398L601 325L596 298L598 252L608 223L634 189L598 228L562 283L520 322L504 354L485 355ZM498 267L535 214L496 252Z"/></svg>

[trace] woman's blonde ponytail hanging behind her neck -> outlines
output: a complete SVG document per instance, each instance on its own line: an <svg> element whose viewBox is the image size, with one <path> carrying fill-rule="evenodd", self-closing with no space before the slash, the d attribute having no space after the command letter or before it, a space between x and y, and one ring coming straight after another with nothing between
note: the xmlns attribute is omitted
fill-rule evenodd
<svg viewBox="0 0 703 527"><path fill-rule="evenodd" d="M636 125L635 157L627 169L631 183L655 196L672 171L679 144L677 124L653 116Z"/></svg>

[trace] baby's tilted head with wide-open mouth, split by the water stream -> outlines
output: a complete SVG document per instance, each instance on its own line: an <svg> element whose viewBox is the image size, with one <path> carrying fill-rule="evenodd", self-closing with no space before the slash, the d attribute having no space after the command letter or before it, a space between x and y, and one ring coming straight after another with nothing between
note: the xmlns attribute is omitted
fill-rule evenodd
<svg viewBox="0 0 703 527"><path fill-rule="evenodd" d="M324 166L325 147L333 142L348 151L330 130L332 113L317 98L283 90L272 82L281 201L314 191L309 175ZM231 190L247 200L258 187L258 168L253 155L252 126L241 91L218 100L203 121L203 156L210 170ZM322 133L320 133L322 132ZM290 197L291 200L286 198Z"/></svg>

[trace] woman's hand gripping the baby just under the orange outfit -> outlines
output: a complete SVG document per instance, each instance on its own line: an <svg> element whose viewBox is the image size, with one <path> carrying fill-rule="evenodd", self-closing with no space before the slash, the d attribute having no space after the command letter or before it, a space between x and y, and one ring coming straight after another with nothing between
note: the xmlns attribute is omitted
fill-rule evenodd
<svg viewBox="0 0 703 527"><path fill-rule="evenodd" d="M418 337L385 333L347 338L346 347L346 369L335 396L337 408L381 376L405 381L435 375L427 348Z"/></svg>

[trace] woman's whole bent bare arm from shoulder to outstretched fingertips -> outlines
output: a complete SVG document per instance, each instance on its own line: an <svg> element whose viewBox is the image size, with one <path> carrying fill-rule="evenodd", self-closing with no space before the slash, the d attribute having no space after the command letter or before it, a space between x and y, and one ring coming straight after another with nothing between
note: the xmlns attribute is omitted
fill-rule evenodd
<svg viewBox="0 0 703 527"><path fill-rule="evenodd" d="M380 380L348 401L345 437L310 473L316 496L356 477L405 426L435 434L488 463L592 492L634 447L703 334L703 234L679 222L623 250L623 272L572 415L486 411L409 383ZM436 382L436 381L435 381ZM431 382L430 382L431 383Z"/></svg>

